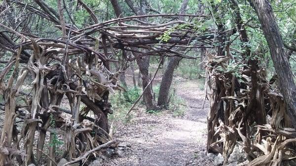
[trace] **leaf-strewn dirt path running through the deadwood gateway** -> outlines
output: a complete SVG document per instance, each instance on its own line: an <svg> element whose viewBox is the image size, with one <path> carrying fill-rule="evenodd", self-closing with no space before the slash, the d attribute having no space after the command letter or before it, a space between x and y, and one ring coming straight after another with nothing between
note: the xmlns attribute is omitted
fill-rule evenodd
<svg viewBox="0 0 296 166"><path fill-rule="evenodd" d="M182 117L172 113L140 111L132 124L121 126L114 137L131 147L122 157L106 160L103 166L211 166L206 158L207 107L201 109L203 92L193 82L180 84L177 94L186 103Z"/></svg>

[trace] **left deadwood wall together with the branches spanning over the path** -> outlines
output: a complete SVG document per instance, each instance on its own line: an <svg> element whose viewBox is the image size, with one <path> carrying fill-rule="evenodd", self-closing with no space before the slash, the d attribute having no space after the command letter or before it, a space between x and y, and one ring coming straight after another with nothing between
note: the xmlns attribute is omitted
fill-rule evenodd
<svg viewBox="0 0 296 166"><path fill-rule="evenodd" d="M196 58L186 56L176 48L204 47L214 36L196 33L194 25L176 20L178 14L131 16L78 29L65 24L43 1L37 0L37 5L11 3L21 7L27 16L37 15L52 22L63 36L39 37L0 24L5 30L0 32L1 52L7 51L11 55L0 72L0 94L3 96L0 109L4 111L1 166L41 165L44 162L54 166L61 158L67 158L69 164L73 164L85 160L96 150L116 146L109 133L108 114L112 109L108 99L114 90L122 90L117 76L128 66L111 71L111 63L118 63L114 57L120 54L125 62L147 55ZM1 14L9 10L13 9L7 8ZM143 17L162 17L164 20L168 17L173 21L143 23L138 20ZM178 25L185 26L179 29ZM165 32L170 32L169 38L161 41ZM195 44L188 45L192 41ZM139 57L128 56L128 51L137 52ZM31 82L26 91L23 90L27 84L25 80ZM17 100L22 100L22 104L17 104ZM70 110L64 109L67 105ZM59 140L62 145L58 146ZM51 146L45 147L48 142ZM62 154L56 153L57 148L63 150Z"/></svg>

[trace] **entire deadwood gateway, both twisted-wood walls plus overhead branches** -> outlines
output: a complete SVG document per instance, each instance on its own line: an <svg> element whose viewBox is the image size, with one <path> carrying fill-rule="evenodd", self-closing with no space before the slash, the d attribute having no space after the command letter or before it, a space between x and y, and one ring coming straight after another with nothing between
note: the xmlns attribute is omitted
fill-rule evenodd
<svg viewBox="0 0 296 166"><path fill-rule="evenodd" d="M118 63L116 55L122 55L125 62L147 55L196 58L177 48L211 48L215 37L223 43L223 36L232 33L222 29L219 35L213 34L214 31L196 33L194 25L176 20L178 14L131 16L98 23L85 5L95 24L78 29L74 24L65 24L41 0L36 0L37 4L10 3L20 7L25 18L42 17L51 22L63 36L41 37L0 24L1 30L5 30L0 32L1 52L11 55L0 69L0 94L4 101L0 103L4 111L1 166L40 165L44 161L53 166L60 158L68 158L69 164L73 164L96 150L115 146L109 134L108 114L112 109L108 99L109 93L122 90L117 76L127 67L123 65L111 71L111 63ZM9 5L1 6L1 16L13 10ZM143 17L171 21L146 23L141 21ZM208 151L222 153L226 164L235 144L241 142L252 161L250 166L292 166L296 131L276 88L276 76L267 80L260 53L255 53L252 61L236 61L229 50L226 47L227 55L221 55L222 50L218 50L219 55L206 54L211 100ZM139 56L130 57L128 51ZM12 71L10 77L9 71ZM32 84L25 92L23 85L27 77ZM17 104L20 99L21 105ZM70 110L61 107L65 104ZM48 139L54 146L46 151L44 145ZM56 154L57 139L63 141L59 147L63 149L61 155Z"/></svg>

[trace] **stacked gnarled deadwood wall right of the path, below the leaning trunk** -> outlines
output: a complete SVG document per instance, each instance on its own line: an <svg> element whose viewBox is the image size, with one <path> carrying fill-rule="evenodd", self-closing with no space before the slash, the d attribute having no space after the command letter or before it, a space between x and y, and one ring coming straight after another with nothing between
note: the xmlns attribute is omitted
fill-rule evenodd
<svg viewBox="0 0 296 166"><path fill-rule="evenodd" d="M248 166L295 166L296 131L276 76L267 79L259 51L246 61L226 52L207 57L208 151L221 153L227 164L238 143Z"/></svg>

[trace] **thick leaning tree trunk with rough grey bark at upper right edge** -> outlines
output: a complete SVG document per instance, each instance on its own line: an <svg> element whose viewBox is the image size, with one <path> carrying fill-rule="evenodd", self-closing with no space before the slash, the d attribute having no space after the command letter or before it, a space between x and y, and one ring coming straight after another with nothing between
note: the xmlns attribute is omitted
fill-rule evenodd
<svg viewBox="0 0 296 166"><path fill-rule="evenodd" d="M279 87L288 105L288 114L296 129L296 85L275 16L269 0L251 1L269 46L272 62L278 75Z"/></svg>

